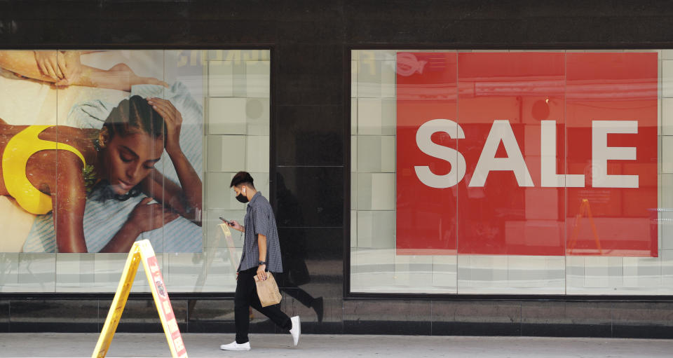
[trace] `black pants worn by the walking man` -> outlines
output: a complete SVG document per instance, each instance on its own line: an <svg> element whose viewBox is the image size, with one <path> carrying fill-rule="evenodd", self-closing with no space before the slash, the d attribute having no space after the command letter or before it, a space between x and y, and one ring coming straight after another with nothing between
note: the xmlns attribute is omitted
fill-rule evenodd
<svg viewBox="0 0 673 358"><path fill-rule="evenodd" d="M242 344L248 341L247 332L250 331L250 306L258 310L273 323L283 329L291 329L292 321L278 305L269 305L261 307L259 296L257 296L257 286L254 284L254 275L257 275L257 268L240 271L238 281L236 282L236 295L233 298L234 320L236 321L236 343Z"/></svg>

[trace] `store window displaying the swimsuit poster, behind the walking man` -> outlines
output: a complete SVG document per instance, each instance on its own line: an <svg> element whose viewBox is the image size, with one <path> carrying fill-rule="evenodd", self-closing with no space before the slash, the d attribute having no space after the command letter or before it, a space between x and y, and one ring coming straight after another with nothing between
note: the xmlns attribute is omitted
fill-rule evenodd
<svg viewBox="0 0 673 358"><path fill-rule="evenodd" d="M268 50L0 51L0 291L114 291L142 239L172 292L233 291L242 242L218 217L243 219L239 170L268 191L269 68Z"/></svg>

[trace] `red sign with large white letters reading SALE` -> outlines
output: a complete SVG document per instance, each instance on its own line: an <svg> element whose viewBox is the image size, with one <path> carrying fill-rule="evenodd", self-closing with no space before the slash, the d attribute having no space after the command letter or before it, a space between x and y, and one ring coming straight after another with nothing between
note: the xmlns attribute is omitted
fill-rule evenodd
<svg viewBox="0 0 673 358"><path fill-rule="evenodd" d="M397 253L657 256L657 53L398 53Z"/></svg>

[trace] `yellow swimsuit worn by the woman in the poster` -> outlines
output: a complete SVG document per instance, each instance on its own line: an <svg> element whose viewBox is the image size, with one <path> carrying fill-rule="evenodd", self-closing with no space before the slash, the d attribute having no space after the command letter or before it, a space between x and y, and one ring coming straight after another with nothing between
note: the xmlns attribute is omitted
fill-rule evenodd
<svg viewBox="0 0 673 358"><path fill-rule="evenodd" d="M52 125L30 125L9 140L2 153L2 176L9 195L31 214L47 214L51 197L37 190L26 176L28 158L39 151L57 150L75 153L86 165L84 156L73 146L39 139L37 136Z"/></svg>

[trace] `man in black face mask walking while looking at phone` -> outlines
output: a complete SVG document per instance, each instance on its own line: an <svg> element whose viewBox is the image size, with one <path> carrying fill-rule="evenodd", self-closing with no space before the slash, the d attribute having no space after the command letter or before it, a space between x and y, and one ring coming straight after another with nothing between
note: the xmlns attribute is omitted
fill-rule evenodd
<svg viewBox="0 0 673 358"><path fill-rule="evenodd" d="M266 271L283 272L278 229L271 204L259 191L255 190L253 179L247 172L236 173L231 179L230 187L236 192L236 200L250 203L247 205L243 220L245 226L240 226L237 221L227 223L231 228L245 233L245 240L243 240L243 254L240 256L240 264L236 270L236 294L233 301L236 340L221 345L220 349L250 350L250 340L247 338L250 328L250 316L248 315L250 306L266 315L279 327L289 329L294 345L297 345L301 334L299 316L287 317L280 310L280 304L261 307L254 283L255 275L260 280L266 280Z"/></svg>

